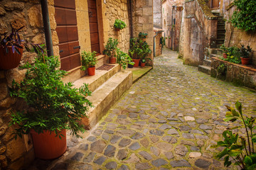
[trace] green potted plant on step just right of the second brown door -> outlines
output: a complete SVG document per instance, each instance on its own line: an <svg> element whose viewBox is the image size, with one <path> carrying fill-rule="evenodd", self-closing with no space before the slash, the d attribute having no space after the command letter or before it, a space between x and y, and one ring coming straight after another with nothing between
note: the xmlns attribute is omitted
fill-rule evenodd
<svg viewBox="0 0 256 170"><path fill-rule="evenodd" d="M109 38L109 40L107 40L107 45L105 45L105 50L103 50L103 54L110 57L110 64L114 64L117 62L117 45L117 39L112 40L112 38Z"/></svg>

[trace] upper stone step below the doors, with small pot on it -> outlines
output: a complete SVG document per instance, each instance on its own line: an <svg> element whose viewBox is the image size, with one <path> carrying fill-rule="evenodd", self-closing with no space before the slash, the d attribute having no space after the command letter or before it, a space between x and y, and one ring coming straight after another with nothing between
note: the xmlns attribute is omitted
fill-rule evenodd
<svg viewBox="0 0 256 170"><path fill-rule="evenodd" d="M120 71L121 67L119 64L110 64L114 65L112 69L107 70L95 70L94 76L85 76L74 82L76 88L82 86L82 84L88 84L90 91L95 91L99 86L104 84L110 77Z"/></svg>

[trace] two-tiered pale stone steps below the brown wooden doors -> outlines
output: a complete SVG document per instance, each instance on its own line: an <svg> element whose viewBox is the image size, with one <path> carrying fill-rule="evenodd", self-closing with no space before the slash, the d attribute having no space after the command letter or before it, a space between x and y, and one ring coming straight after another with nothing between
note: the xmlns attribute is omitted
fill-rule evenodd
<svg viewBox="0 0 256 170"><path fill-rule="evenodd" d="M96 68L106 64L106 58L98 57ZM110 70L96 69L95 76L85 76L74 81L76 88L82 84L88 84L92 95L88 96L88 100L92 102L94 107L90 108L87 118L83 118L81 123L85 125L85 129L89 130L94 127L97 122L107 113L114 103L124 94L124 91L132 86L132 72L122 71L119 64L112 65Z"/></svg>

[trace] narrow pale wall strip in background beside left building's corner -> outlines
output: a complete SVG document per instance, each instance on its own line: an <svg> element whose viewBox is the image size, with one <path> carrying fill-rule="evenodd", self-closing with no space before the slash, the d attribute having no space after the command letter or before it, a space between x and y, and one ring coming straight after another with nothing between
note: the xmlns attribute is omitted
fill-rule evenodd
<svg viewBox="0 0 256 170"><path fill-rule="evenodd" d="M153 1L154 28L162 28L161 0Z"/></svg>

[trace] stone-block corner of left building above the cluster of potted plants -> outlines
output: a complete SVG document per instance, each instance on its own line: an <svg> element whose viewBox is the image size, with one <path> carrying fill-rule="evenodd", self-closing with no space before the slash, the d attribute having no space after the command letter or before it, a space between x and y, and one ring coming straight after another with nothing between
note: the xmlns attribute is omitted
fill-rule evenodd
<svg viewBox="0 0 256 170"><path fill-rule="evenodd" d="M134 37L139 35L139 32L148 33L146 42L152 51L151 60L153 60L153 0L132 1L132 30ZM149 62L149 65L153 65Z"/></svg>

